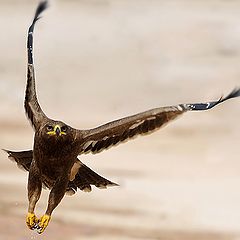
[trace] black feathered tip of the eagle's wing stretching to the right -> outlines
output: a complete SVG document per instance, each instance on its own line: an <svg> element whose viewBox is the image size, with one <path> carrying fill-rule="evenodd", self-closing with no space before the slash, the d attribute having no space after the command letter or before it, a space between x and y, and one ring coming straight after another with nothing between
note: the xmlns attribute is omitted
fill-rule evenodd
<svg viewBox="0 0 240 240"><path fill-rule="evenodd" d="M187 111L204 111L211 109L218 104L227 101L231 98L240 97L240 88L235 88L232 92L230 92L226 97L221 97L218 101L207 102L207 103L194 103L194 104L182 104L180 105Z"/></svg>

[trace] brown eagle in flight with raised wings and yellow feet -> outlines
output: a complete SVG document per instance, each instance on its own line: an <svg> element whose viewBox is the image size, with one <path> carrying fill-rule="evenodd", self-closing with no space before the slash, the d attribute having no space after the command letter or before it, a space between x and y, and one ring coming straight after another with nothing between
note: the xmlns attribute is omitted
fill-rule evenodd
<svg viewBox="0 0 240 240"><path fill-rule="evenodd" d="M185 112L211 109L230 98L240 96L240 88L237 88L218 101L155 108L88 130L74 129L62 121L50 119L42 111L37 99L32 54L34 26L46 8L47 1L39 3L27 38L28 64L24 107L35 132L33 150L5 150L11 160L29 171L26 223L30 229L37 229L38 233L46 229L53 210L66 193L74 194L77 189L89 192L91 185L98 188L117 185L84 165L78 160L79 155L99 153L137 135L152 133ZM34 210L43 186L50 189L50 194L46 212L38 219Z"/></svg>

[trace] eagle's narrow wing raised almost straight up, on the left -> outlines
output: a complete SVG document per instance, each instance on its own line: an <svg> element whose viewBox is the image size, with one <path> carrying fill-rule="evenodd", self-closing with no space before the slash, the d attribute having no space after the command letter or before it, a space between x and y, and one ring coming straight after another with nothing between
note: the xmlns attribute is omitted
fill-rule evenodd
<svg viewBox="0 0 240 240"><path fill-rule="evenodd" d="M42 1L38 5L33 22L28 29L27 51L28 51L28 69L27 69L27 86L25 92L24 107L28 118L34 129L37 129L38 123L44 120L46 115L43 113L37 99L35 87L35 75L33 66L33 31L39 15L47 8L47 1Z"/></svg>

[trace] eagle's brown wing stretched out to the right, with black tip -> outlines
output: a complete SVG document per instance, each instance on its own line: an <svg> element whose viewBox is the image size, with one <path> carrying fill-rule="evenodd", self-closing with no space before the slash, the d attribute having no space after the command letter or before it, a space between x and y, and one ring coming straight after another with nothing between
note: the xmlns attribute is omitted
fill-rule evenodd
<svg viewBox="0 0 240 240"><path fill-rule="evenodd" d="M227 97L220 98L218 101L156 108L107 123L94 129L79 130L78 140L81 142L79 154L101 152L118 143L132 139L137 135L152 133L186 111L211 109L227 99L238 96L240 96L240 89L235 89Z"/></svg>

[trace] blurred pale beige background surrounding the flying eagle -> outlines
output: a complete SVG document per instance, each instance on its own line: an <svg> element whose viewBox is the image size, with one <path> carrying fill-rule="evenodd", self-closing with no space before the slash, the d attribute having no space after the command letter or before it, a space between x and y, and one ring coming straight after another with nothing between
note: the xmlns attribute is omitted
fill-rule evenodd
<svg viewBox="0 0 240 240"><path fill-rule="evenodd" d="M26 33L38 1L0 0L0 148L32 148ZM46 114L80 129L240 86L240 1L56 0L37 23ZM0 239L240 239L240 99L80 159L120 184L66 196L25 226L27 173L0 152ZM43 214L43 191L37 215Z"/></svg>

